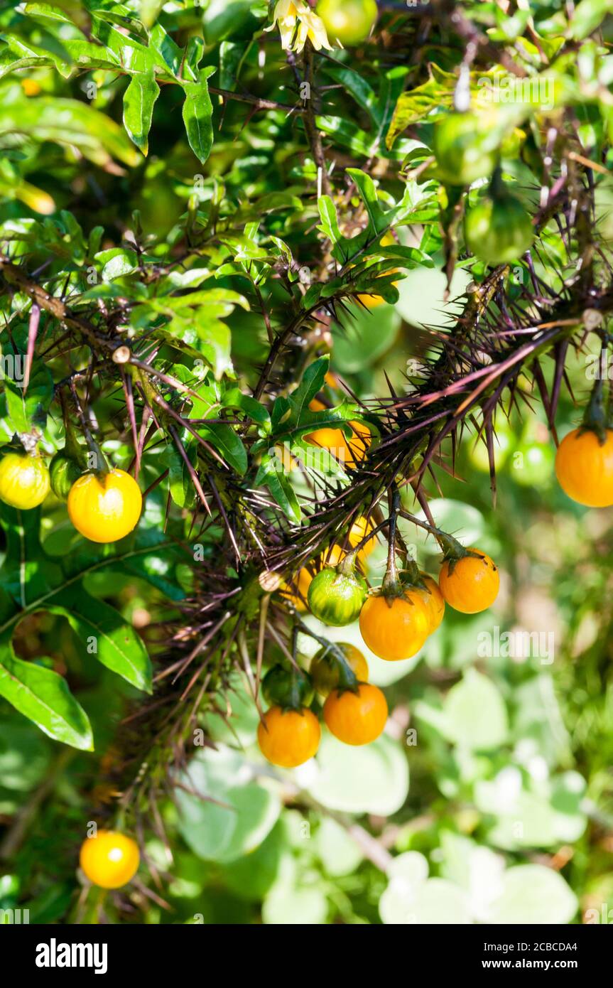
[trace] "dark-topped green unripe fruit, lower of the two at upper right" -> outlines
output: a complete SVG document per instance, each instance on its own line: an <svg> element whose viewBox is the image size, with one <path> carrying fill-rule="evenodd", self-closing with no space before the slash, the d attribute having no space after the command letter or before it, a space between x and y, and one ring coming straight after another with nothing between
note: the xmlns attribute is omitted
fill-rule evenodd
<svg viewBox="0 0 613 988"><path fill-rule="evenodd" d="M464 233L470 251L486 264L517 261L534 241L525 206L510 193L486 196L466 214Z"/></svg>

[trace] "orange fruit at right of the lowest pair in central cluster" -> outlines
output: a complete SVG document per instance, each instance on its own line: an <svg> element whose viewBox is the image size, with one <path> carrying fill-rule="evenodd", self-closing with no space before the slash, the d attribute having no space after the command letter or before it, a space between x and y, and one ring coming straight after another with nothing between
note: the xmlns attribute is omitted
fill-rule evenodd
<svg viewBox="0 0 613 988"><path fill-rule="evenodd" d="M328 730L345 744L374 741L385 727L387 714L387 700L371 683L358 683L355 692L333 690L324 703Z"/></svg>

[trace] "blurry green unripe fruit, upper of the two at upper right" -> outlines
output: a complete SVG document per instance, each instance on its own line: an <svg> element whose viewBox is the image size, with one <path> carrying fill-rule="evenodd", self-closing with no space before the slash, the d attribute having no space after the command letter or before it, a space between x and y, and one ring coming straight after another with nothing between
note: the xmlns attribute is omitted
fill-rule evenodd
<svg viewBox="0 0 613 988"><path fill-rule="evenodd" d="M498 162L493 132L476 114L449 114L434 124L432 150L446 185L472 185L492 175Z"/></svg>

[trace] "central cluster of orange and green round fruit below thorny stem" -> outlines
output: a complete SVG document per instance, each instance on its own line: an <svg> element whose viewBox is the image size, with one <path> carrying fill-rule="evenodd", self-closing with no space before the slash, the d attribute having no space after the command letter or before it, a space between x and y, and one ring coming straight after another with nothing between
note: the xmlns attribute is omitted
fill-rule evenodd
<svg viewBox="0 0 613 988"><path fill-rule="evenodd" d="M498 569L479 549L458 546L445 558L439 583L415 567L410 579L398 580L372 595L364 578L355 571L354 558L371 551L373 540L360 543L372 532L365 518L351 527L348 552L333 546L323 569L311 576L302 568L296 578L297 593L285 586L281 593L298 610L311 613L326 624L341 627L359 617L362 638L368 648L386 661L415 655L440 624L445 603L464 614L476 614L494 603L498 595ZM332 565L330 564L332 561ZM337 563L337 565L334 565ZM260 749L273 765L295 768L312 758L319 747L321 727L310 709L315 693L325 698L323 717L332 734L350 745L368 744L381 734L387 720L387 702L378 687L368 683L368 666L361 652L346 643L323 646L312 660L309 673L294 666L273 666L263 682L264 699L270 704L258 729Z"/></svg>

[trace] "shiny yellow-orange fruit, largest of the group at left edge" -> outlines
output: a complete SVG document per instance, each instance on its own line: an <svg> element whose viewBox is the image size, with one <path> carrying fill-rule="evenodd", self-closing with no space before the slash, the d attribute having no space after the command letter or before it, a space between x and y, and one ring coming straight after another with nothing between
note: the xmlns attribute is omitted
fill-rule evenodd
<svg viewBox="0 0 613 988"><path fill-rule="evenodd" d="M84 473L70 488L68 515L93 542L115 542L135 528L142 508L138 484L124 470Z"/></svg>

